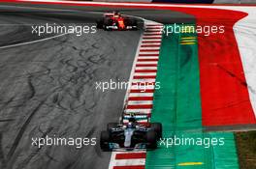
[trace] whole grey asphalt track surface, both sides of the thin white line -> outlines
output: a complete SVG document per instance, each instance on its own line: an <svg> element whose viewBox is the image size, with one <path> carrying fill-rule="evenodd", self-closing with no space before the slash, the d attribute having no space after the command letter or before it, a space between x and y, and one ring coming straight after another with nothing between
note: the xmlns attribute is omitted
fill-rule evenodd
<svg viewBox="0 0 256 169"><path fill-rule="evenodd" d="M94 138L109 122L118 121L126 91L102 92L95 89L95 83L129 80L142 30L100 30L12 46L56 36L32 35L31 25L93 25L102 14L86 11L112 11L46 8L0 6L0 168L106 169L111 153L102 153L98 144L81 149L36 148L31 146L31 138ZM163 23L194 20L190 15L167 11L123 11Z"/></svg>

